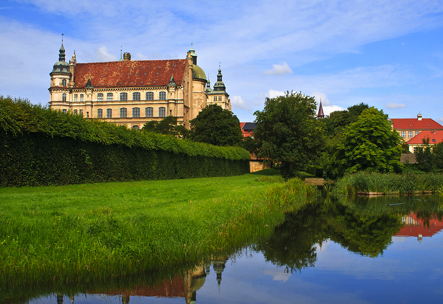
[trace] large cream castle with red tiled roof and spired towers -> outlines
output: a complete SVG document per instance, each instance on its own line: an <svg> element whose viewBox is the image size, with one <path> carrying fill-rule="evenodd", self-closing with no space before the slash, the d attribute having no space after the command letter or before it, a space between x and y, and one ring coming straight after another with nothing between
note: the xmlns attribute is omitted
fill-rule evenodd
<svg viewBox="0 0 443 304"><path fill-rule="evenodd" d="M77 64L74 52L68 64L62 42L50 76L51 108L128 128L169 115L189 128L189 120L208 104L231 110L221 69L211 89L192 47L186 59L131 61L125 53L119 61Z"/></svg>

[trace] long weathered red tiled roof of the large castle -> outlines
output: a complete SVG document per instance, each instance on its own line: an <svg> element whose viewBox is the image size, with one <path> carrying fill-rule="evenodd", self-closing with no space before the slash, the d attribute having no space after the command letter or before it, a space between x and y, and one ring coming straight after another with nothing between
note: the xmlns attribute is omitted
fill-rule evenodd
<svg viewBox="0 0 443 304"><path fill-rule="evenodd" d="M74 88L84 88L88 79L94 87L166 86L171 76L182 85L186 67L186 59L76 64Z"/></svg>

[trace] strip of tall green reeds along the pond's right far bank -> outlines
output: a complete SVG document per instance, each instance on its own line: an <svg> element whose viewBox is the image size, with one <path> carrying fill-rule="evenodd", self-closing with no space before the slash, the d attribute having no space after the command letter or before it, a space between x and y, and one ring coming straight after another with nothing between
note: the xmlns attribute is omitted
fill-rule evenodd
<svg viewBox="0 0 443 304"><path fill-rule="evenodd" d="M438 191L443 186L442 173L381 174L357 172L345 175L334 186L334 193L354 195L357 192L381 192L406 194L413 192Z"/></svg>

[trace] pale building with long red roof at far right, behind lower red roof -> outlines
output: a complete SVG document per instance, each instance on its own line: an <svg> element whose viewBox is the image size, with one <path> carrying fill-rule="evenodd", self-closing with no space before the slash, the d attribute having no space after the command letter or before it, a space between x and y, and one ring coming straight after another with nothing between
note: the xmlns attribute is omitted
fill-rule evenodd
<svg viewBox="0 0 443 304"><path fill-rule="evenodd" d="M407 142L422 131L443 131L443 126L431 118L422 118L417 114L415 118L392 118L392 128ZM412 151L411 151L412 152Z"/></svg>

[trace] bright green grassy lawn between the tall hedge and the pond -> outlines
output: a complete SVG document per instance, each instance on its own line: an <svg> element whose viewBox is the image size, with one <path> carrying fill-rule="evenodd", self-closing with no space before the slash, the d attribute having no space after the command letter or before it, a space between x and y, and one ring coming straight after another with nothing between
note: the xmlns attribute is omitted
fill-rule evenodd
<svg viewBox="0 0 443 304"><path fill-rule="evenodd" d="M2 188L0 286L87 283L192 264L270 234L285 211L315 195L299 180L276 190L257 177ZM302 195L288 194L295 190ZM276 200L276 191L291 200Z"/></svg>

